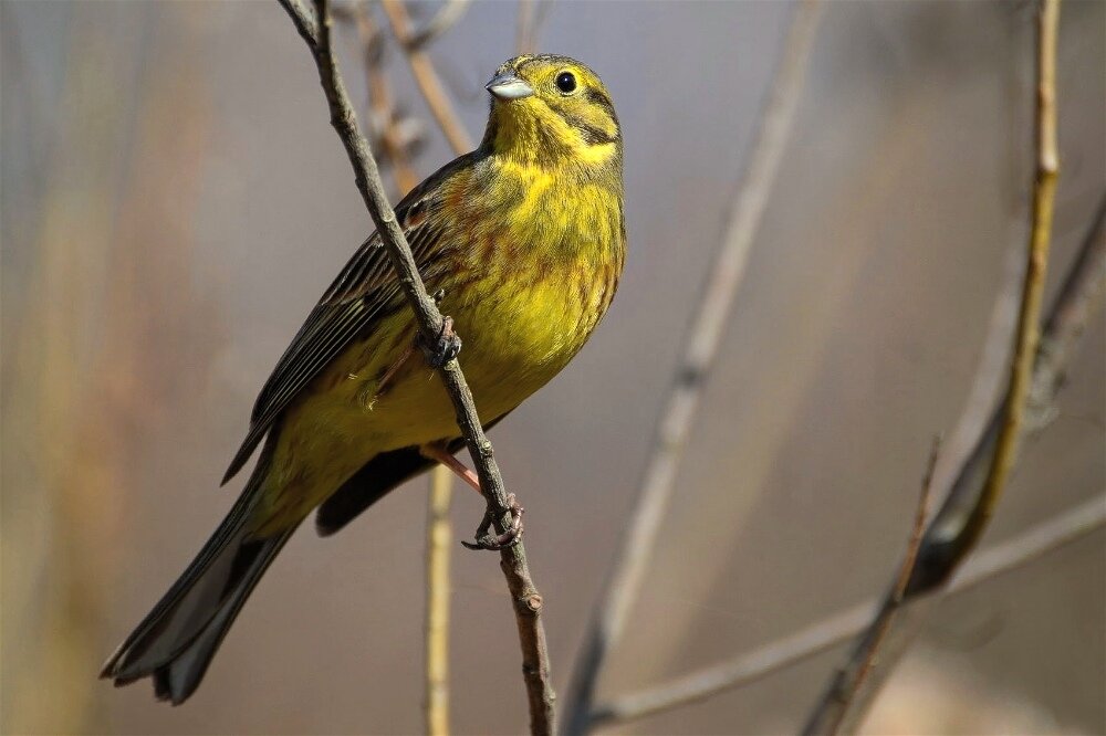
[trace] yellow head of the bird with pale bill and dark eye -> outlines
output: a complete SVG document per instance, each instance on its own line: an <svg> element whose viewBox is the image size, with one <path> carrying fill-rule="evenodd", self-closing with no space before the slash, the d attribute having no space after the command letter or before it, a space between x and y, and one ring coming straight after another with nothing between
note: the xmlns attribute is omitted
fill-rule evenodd
<svg viewBox="0 0 1106 736"><path fill-rule="evenodd" d="M491 115L483 146L540 166L622 164L622 134L607 88L578 61L515 56L488 83Z"/></svg>

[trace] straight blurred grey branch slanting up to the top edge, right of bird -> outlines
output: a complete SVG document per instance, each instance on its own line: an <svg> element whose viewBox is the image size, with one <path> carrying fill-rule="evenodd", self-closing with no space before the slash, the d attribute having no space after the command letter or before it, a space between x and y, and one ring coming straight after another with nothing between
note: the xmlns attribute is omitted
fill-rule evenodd
<svg viewBox="0 0 1106 736"><path fill-rule="evenodd" d="M603 665L622 638L630 608L640 590L706 376L718 355L727 315L744 274L749 251L783 158L820 10L817 0L803 0L795 10L762 112L749 166L734 200L726 240L708 270L709 281L684 346L676 381L656 429L628 528L576 661L565 718L571 734L584 733L587 728Z"/></svg>

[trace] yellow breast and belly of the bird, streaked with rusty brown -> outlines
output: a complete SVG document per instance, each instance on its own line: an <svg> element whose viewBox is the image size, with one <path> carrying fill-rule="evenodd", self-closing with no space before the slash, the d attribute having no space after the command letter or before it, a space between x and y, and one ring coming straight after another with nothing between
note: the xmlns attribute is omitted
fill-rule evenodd
<svg viewBox="0 0 1106 736"><path fill-rule="evenodd" d="M480 180L488 181L473 178L463 189ZM519 406L583 347L614 297L625 252L616 193L581 186L565 197L563 182L532 170L491 180L530 193L465 221L473 227L450 228L452 267L428 283L444 290L439 306L462 339L460 364L484 423ZM503 201L463 189L467 201ZM289 409L267 525L302 518L379 452L459 434L440 379L409 349L415 335L407 308L380 319Z"/></svg>

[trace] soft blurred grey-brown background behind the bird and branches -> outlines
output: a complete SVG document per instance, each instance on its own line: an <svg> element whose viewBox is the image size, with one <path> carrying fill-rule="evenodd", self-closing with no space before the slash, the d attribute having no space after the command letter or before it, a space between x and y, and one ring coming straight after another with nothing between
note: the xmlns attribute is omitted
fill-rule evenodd
<svg viewBox="0 0 1106 736"><path fill-rule="evenodd" d="M437 4L408 10L425 20ZM474 2L430 49L473 138L521 10ZM536 48L585 61L613 93L630 240L592 343L492 433L528 509L564 694L792 8L535 10ZM1104 28L1106 3L1064 3L1046 298L1106 188ZM884 590L930 438L972 393L1025 240L1032 31L1025 2L827 3L603 694ZM335 39L364 104L357 34L338 25ZM305 525L187 705L95 680L230 506L238 485L218 482L257 391L371 230L303 42L269 2L6 1L0 44L3 732L418 732L425 479L334 538ZM397 105L424 124L413 166L426 176L452 155L396 44L382 53ZM1099 312L983 547L1106 486L1104 332ZM459 494L457 535L481 513ZM868 729L1106 732L1104 551L1099 529L945 601ZM459 547L453 565L453 727L521 732L499 566ZM620 730L793 732L842 651Z"/></svg>

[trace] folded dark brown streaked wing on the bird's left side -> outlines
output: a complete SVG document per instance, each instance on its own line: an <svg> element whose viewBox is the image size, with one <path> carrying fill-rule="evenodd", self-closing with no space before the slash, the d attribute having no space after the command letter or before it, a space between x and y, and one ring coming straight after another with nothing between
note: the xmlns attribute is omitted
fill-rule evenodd
<svg viewBox="0 0 1106 736"><path fill-rule="evenodd" d="M442 190L465 165L465 157L446 166L416 187L396 207L396 219L410 244L415 263L425 278L441 254ZM258 443L281 412L303 388L337 357L358 335L372 329L385 307L397 304L399 283L380 242L373 233L326 290L284 355L276 361L253 404L250 430L230 463L222 482L242 469Z"/></svg>

